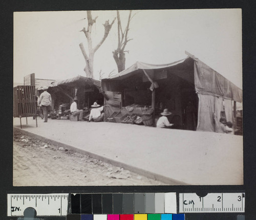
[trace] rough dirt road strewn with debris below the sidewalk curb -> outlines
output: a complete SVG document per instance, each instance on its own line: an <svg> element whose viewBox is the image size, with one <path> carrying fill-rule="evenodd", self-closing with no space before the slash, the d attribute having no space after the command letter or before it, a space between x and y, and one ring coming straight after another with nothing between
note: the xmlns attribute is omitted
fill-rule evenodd
<svg viewBox="0 0 256 220"><path fill-rule="evenodd" d="M166 185L14 131L14 186Z"/></svg>

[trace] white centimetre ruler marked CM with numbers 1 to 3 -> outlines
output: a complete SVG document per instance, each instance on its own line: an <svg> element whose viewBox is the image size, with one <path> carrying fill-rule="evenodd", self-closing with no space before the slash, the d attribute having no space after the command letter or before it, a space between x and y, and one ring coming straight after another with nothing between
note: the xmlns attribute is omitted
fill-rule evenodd
<svg viewBox="0 0 256 220"><path fill-rule="evenodd" d="M180 213L244 212L245 193L196 193L179 194Z"/></svg>

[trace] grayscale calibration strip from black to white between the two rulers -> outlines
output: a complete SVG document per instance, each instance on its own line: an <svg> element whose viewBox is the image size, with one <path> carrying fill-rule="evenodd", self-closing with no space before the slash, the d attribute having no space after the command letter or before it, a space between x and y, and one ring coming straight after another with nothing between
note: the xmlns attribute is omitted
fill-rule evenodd
<svg viewBox="0 0 256 220"><path fill-rule="evenodd" d="M177 213L175 192L71 194L72 214ZM126 219L122 219L126 220ZM130 219L129 219L130 220ZM137 219L142 220L142 219Z"/></svg>

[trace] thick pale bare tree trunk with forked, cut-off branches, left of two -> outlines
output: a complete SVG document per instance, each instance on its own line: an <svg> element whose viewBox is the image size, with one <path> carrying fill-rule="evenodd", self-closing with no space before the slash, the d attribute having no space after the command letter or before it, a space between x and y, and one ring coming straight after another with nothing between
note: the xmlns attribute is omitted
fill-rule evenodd
<svg viewBox="0 0 256 220"><path fill-rule="evenodd" d="M83 57L86 60L86 67L84 68L84 72L86 72L86 76L89 78L94 78L93 77L93 60L94 60L94 54L95 52L99 49L99 47L102 45L102 43L104 42L104 40L106 39L106 37L108 37L110 30L112 28L112 25L115 22L115 19L113 19L112 23L109 23L109 20L105 21L105 24L103 24L104 26L104 35L102 37L102 39L99 41L99 43L93 48L92 46L92 37L91 37L91 32L92 32L92 26L94 23L96 23L96 19L98 18L98 16L96 16L94 19L92 18L92 12L91 11L87 11L87 20L88 20L88 26L87 29L83 28L81 31L86 35L87 38L87 43L88 43L88 53L87 54L86 50L84 49L83 43L80 43L80 49L82 51Z"/></svg>

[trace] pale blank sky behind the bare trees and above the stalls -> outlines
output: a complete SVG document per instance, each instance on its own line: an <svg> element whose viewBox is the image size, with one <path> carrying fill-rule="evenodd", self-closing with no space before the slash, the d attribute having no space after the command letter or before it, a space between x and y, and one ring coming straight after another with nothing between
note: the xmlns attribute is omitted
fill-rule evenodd
<svg viewBox="0 0 256 220"><path fill-rule="evenodd" d="M136 61L165 64L195 55L242 89L241 9L134 10L126 45L125 68ZM116 11L93 11L93 45L103 36L105 20ZM120 11L123 26L129 11ZM86 19L84 19L86 18ZM86 11L14 12L13 81L35 73L38 79L86 76L79 43L87 49L83 32ZM112 51L117 47L117 20L94 57L94 78L117 73Z"/></svg>

